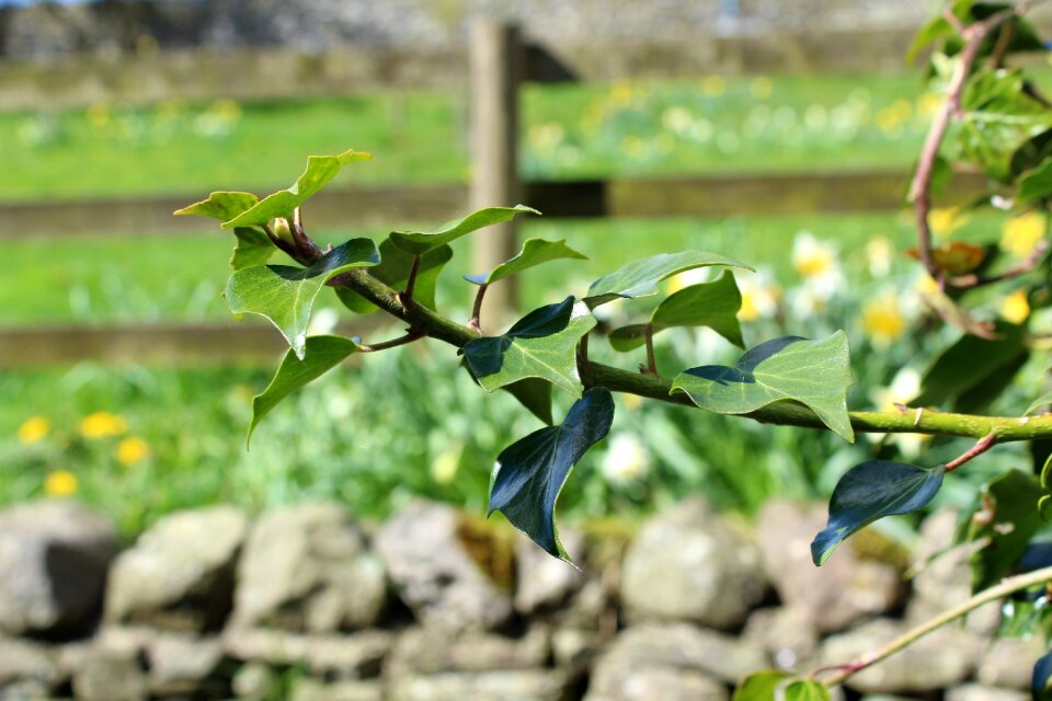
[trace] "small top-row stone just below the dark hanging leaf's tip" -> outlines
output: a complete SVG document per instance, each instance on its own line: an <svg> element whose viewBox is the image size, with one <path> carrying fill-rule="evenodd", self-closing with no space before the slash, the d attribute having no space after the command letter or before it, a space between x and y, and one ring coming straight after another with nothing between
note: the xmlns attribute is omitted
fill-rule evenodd
<svg viewBox="0 0 1052 701"><path fill-rule="evenodd" d="M559 539L563 549L579 562L584 550L582 535L562 528ZM515 609L524 616L559 606L580 589L586 578L580 570L556 560L525 538L515 542Z"/></svg>

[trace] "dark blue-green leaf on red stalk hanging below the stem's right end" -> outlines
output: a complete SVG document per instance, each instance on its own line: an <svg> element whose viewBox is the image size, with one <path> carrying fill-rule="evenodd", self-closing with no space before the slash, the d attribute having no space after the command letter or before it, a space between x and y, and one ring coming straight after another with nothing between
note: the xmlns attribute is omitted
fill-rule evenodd
<svg viewBox="0 0 1052 701"><path fill-rule="evenodd" d="M811 543L811 559L821 566L848 536L884 516L925 506L942 486L946 467L925 469L872 460L848 470L833 490L830 520Z"/></svg>

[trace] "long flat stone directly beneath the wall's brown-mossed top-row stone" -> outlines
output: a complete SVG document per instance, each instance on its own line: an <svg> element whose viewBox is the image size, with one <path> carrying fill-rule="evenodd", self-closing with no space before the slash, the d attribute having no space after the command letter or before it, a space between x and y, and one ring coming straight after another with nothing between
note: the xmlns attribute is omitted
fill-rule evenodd
<svg viewBox="0 0 1052 701"><path fill-rule="evenodd" d="M397 679L444 671L492 671L544 667L551 653L549 633L535 627L521 639L464 632L448 636L434 629L409 629L398 636L385 663Z"/></svg>

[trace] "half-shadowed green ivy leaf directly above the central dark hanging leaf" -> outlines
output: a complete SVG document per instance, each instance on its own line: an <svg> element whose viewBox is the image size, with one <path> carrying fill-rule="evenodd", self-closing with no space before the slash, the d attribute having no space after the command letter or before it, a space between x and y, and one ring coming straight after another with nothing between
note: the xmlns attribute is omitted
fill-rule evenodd
<svg viewBox="0 0 1052 701"><path fill-rule="evenodd" d="M464 356L471 374L488 392L526 377L538 377L581 397L576 345L595 326L584 302L567 297L535 309L502 336L469 341Z"/></svg>

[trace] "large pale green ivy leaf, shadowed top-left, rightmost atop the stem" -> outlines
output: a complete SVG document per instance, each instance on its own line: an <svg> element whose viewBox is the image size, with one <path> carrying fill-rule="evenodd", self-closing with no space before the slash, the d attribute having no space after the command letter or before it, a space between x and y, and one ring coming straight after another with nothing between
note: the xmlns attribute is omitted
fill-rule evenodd
<svg viewBox="0 0 1052 701"><path fill-rule="evenodd" d="M717 414L747 414L774 402L796 401L854 441L847 414L847 388L854 382L847 336L837 331L823 341L785 336L762 343L734 367L691 368L672 382L672 392L686 392L699 407Z"/></svg>

